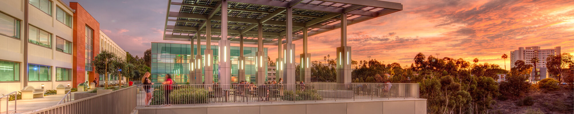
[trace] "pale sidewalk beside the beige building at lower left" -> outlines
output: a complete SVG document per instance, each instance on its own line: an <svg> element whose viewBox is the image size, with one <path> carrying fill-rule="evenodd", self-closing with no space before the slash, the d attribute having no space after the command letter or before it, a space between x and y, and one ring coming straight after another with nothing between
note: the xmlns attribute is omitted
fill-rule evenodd
<svg viewBox="0 0 574 114"><path fill-rule="evenodd" d="M72 95L71 99L72 100L73 100L74 93L77 93L77 92L71 93L71 95ZM64 97L64 94L60 94L60 95L44 96L43 98L17 100L16 113L25 113L25 112L34 111L37 109L51 107L53 105L56 105L63 97ZM6 105L6 102L4 102L2 105ZM9 101L8 107L9 107L8 108L9 112L14 111L14 101Z"/></svg>

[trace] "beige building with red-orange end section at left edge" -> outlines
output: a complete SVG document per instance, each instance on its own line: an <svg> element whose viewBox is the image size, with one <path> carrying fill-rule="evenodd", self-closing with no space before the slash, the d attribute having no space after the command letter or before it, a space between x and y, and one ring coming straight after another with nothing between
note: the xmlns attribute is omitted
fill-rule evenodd
<svg viewBox="0 0 574 114"><path fill-rule="evenodd" d="M0 94L92 78L90 62L100 51L94 31L99 23L76 2L0 1Z"/></svg>

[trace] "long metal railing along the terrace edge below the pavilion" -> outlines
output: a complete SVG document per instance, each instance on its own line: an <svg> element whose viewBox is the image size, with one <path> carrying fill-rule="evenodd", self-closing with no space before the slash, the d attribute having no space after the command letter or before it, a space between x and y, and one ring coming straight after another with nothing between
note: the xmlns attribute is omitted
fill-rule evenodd
<svg viewBox="0 0 574 114"><path fill-rule="evenodd" d="M417 98L419 91L417 83L184 84L137 87L137 105L408 99Z"/></svg>

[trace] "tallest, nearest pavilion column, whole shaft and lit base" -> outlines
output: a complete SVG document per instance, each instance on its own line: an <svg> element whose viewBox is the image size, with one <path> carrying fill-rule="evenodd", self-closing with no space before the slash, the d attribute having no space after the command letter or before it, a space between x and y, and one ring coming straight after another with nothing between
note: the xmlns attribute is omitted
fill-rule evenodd
<svg viewBox="0 0 574 114"><path fill-rule="evenodd" d="M230 40L227 39L227 0L221 5L221 40L219 40L219 84L231 84ZM229 86L221 86L229 89Z"/></svg>

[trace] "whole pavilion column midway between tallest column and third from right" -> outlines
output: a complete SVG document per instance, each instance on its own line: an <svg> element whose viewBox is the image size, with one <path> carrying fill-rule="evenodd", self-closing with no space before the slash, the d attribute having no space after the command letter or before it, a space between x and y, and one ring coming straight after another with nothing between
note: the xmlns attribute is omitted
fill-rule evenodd
<svg viewBox="0 0 574 114"><path fill-rule="evenodd" d="M263 52L263 25L261 23L259 23L257 25L257 53L255 55L255 67L257 67L257 77L255 77L255 80L257 80L257 84L263 84L265 83L265 79L267 78L267 65L265 62L265 58L267 58L267 56L265 55L265 52Z"/></svg>

